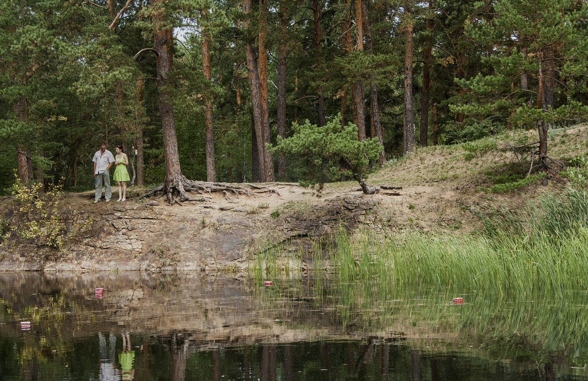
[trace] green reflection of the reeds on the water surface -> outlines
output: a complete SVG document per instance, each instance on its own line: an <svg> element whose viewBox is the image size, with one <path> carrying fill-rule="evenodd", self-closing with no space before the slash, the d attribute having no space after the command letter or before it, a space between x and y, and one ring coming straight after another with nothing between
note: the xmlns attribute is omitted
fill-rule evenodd
<svg viewBox="0 0 588 381"><path fill-rule="evenodd" d="M339 288L357 330L402 332L422 346L451 342L493 356L556 354L582 366L588 355L586 292L463 292L442 288L395 288L377 295L379 285L355 283ZM453 305L454 296L465 304Z"/></svg>

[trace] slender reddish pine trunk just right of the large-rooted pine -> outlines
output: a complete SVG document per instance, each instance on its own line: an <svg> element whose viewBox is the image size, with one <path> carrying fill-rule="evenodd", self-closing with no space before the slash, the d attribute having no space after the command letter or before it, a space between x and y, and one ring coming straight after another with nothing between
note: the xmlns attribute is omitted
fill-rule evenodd
<svg viewBox="0 0 588 381"><path fill-rule="evenodd" d="M202 16L202 24L208 20L208 11L202 9L200 14ZM201 26L202 32L202 73L208 81L207 86L212 79L211 71L211 51L210 35L205 26ZM204 95L204 123L205 123L205 145L206 145L206 181L216 182L216 167L215 167L215 134L212 122L212 100L211 92L205 91Z"/></svg>

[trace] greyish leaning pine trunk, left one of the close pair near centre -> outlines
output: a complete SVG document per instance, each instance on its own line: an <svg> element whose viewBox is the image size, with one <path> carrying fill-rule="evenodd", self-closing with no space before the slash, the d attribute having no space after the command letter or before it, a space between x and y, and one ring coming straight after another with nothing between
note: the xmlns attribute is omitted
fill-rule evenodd
<svg viewBox="0 0 588 381"><path fill-rule="evenodd" d="M246 15L245 21L243 21L243 29L245 31L249 28L249 14L251 13L251 1L243 0L243 13ZM265 180L266 168L265 168L265 147L263 144L263 116L261 111L261 86L259 82L259 71L258 64L255 55L255 49L250 41L245 45L245 56L247 61L247 70L249 72L249 89L251 92L251 109L253 113L253 129L255 131L255 145L259 160L259 172L261 181ZM252 138L253 142L253 138Z"/></svg>

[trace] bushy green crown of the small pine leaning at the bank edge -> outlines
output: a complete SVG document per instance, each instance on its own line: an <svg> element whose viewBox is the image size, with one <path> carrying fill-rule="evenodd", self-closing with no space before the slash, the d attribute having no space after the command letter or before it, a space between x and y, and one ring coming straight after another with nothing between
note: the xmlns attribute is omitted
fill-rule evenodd
<svg viewBox="0 0 588 381"><path fill-rule="evenodd" d="M268 149L272 155L283 153L291 162L300 161L306 169L302 180L321 183L345 175L360 181L382 146L377 138L358 141L357 127L349 123L342 128L339 121L340 115L322 127L308 120L303 125L293 123L293 135L278 136L276 146Z"/></svg>

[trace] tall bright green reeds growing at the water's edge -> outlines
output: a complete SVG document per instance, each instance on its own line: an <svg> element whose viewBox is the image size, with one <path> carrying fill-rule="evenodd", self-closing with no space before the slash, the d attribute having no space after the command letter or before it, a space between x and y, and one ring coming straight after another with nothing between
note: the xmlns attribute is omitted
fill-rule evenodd
<svg viewBox="0 0 588 381"><path fill-rule="evenodd" d="M504 208L473 235L373 232L333 237L331 255L342 281L377 280L384 289L456 286L500 292L588 289L586 192L548 194L512 212ZM496 216L495 216L496 217Z"/></svg>

